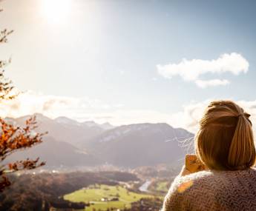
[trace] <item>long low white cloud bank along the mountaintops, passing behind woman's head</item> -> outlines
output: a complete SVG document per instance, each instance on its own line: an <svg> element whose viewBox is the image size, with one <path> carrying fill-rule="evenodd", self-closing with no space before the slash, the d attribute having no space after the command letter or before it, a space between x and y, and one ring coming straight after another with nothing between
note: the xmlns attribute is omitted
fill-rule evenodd
<svg viewBox="0 0 256 211"><path fill-rule="evenodd" d="M16 118L22 115L42 113L50 118L64 115L76 121L96 121L98 123L108 121L114 125L165 122L172 127L182 127L195 133L204 109L213 100L215 99L191 101L180 107L180 111L176 113L171 111L165 113L158 110L126 109L122 104L105 104L98 99L44 95L29 91L20 94L14 100L1 101L0 116ZM236 102L251 114L250 118L255 130L256 100Z"/></svg>

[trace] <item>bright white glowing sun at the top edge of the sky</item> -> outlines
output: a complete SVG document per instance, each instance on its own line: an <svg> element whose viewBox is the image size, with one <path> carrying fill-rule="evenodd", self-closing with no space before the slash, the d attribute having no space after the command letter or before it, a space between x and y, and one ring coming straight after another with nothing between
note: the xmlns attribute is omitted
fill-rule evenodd
<svg viewBox="0 0 256 211"><path fill-rule="evenodd" d="M41 0L42 16L49 23L60 24L68 20L72 12L72 0Z"/></svg>

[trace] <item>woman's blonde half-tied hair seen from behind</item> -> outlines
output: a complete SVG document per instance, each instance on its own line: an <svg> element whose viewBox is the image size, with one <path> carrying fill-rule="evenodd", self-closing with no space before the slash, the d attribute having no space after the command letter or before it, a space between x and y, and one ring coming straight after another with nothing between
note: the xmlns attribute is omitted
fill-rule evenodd
<svg viewBox="0 0 256 211"><path fill-rule="evenodd" d="M255 144L249 114L233 101L212 101L200 120L195 150L206 167L243 170L255 164Z"/></svg>

